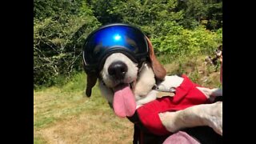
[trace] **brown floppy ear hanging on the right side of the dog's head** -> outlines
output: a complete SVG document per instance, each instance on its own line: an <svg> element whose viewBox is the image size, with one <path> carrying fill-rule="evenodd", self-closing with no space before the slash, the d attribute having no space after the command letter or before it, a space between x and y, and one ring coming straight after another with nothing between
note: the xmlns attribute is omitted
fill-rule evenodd
<svg viewBox="0 0 256 144"><path fill-rule="evenodd" d="M158 59L155 57L154 49L152 43L150 42L150 39L146 38L146 40L150 49L150 60L154 71L154 75L159 80L164 80L164 78L166 77L166 69L160 64L160 62L158 62Z"/></svg>

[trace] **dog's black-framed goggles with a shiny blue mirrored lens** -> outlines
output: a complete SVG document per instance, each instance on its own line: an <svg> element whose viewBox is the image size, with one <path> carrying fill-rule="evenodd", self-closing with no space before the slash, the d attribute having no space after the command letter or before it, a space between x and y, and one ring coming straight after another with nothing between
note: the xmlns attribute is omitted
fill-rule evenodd
<svg viewBox="0 0 256 144"><path fill-rule="evenodd" d="M83 46L85 70L100 70L106 57L116 52L126 54L134 62L145 61L149 55L145 34L126 24L111 24L94 30Z"/></svg>

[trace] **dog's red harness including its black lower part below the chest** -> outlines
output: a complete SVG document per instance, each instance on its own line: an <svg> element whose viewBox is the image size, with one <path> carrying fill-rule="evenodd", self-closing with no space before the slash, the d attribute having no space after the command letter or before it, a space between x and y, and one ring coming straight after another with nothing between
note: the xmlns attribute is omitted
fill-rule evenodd
<svg viewBox="0 0 256 144"><path fill-rule="evenodd" d="M139 107L132 117L127 117L134 123L134 143L144 144L147 143L146 141L162 143L172 134L162 125L159 113L184 110L187 107L208 102L206 96L196 88L198 84L191 82L184 74L182 78L184 78L182 84L172 90L174 97L157 98Z"/></svg>

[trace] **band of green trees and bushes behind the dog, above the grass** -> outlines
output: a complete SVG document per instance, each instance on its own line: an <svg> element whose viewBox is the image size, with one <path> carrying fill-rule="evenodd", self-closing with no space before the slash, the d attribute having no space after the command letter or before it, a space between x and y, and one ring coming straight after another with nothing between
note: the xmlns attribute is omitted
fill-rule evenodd
<svg viewBox="0 0 256 144"><path fill-rule="evenodd" d="M141 28L155 53L168 56L162 62L212 54L222 43L222 1L34 0L34 87L82 71L86 36L111 22Z"/></svg>

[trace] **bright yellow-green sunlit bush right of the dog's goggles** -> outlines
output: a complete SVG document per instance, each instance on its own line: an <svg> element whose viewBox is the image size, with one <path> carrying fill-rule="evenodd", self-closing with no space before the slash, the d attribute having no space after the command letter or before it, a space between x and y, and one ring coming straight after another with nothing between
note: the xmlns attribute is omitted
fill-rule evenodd
<svg viewBox="0 0 256 144"><path fill-rule="evenodd" d="M198 26L195 30L176 27L177 33L168 33L158 38L152 38L154 48L160 54L168 54L168 59L194 57L202 54L211 54L222 43L222 31L214 33ZM175 31L175 30L174 30Z"/></svg>

